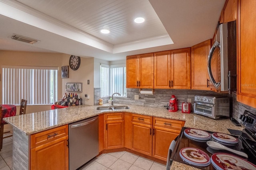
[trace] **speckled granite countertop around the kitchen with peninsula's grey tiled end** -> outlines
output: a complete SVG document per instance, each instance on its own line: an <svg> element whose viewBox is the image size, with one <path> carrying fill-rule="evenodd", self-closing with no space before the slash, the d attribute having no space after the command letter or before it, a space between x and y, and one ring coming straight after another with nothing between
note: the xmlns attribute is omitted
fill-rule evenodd
<svg viewBox="0 0 256 170"><path fill-rule="evenodd" d="M121 104L120 104L121 105ZM104 105L103 105L104 106ZM4 118L4 121L13 126L13 170L30 169L30 137L38 132L61 127L69 123L101 115L103 113L126 112L185 121L185 127L229 133L227 129L241 130L229 119L210 119L196 114L169 112L165 108L144 107L129 105L130 109L97 110L98 106L74 106L63 109L54 109L26 115ZM170 141L171 142L171 141ZM172 168L186 167L187 165L174 162Z"/></svg>

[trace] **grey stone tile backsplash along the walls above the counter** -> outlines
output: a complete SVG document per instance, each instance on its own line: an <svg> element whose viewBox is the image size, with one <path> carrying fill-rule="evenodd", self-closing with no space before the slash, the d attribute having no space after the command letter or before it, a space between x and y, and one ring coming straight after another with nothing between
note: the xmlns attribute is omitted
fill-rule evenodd
<svg viewBox="0 0 256 170"><path fill-rule="evenodd" d="M150 90L150 89L143 89L143 90ZM138 105L138 106L149 106L149 107L164 107L169 103L170 97L174 94L178 99L178 107L181 110L182 102L187 102L188 99L191 99L192 110L194 110L194 96L195 95L214 95L218 94L212 91L206 90L170 90L170 89L155 89L153 95L148 94L140 94L140 90L137 88L127 88L127 98L124 97L115 97L114 102L119 104L131 104L131 105ZM139 95L139 100L134 99L134 95ZM256 112L256 108L247 106L240 102L236 101L236 93L233 92L230 96L230 103L231 103L231 111L232 117L236 120L239 120L239 115L244 113L244 110L254 111ZM94 88L94 105L99 105L100 99L100 88ZM103 103L108 103L110 97L104 97Z"/></svg>

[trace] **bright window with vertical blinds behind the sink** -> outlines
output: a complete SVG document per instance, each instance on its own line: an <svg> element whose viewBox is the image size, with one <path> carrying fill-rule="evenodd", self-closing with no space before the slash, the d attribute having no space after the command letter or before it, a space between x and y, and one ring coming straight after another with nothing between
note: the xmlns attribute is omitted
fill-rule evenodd
<svg viewBox="0 0 256 170"><path fill-rule="evenodd" d="M109 68L110 67L110 68ZM118 92L126 97L126 67L120 65L101 64L100 66L100 95L111 96Z"/></svg>

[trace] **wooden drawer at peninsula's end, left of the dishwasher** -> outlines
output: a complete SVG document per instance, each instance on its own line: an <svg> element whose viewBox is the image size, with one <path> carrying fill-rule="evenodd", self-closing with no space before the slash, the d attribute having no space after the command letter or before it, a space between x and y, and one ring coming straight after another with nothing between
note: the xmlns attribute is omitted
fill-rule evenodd
<svg viewBox="0 0 256 170"><path fill-rule="evenodd" d="M30 136L30 148L38 147L65 136L68 136L68 125L35 133Z"/></svg>

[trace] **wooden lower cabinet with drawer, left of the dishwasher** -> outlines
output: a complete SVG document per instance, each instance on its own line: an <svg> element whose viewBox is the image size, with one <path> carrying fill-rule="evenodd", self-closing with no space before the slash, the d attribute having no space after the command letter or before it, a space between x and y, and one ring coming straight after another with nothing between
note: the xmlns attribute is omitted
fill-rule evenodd
<svg viewBox="0 0 256 170"><path fill-rule="evenodd" d="M31 170L68 170L68 125L30 136Z"/></svg>

